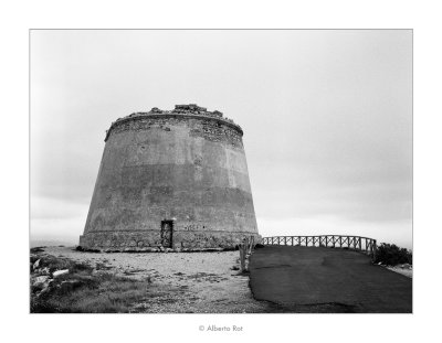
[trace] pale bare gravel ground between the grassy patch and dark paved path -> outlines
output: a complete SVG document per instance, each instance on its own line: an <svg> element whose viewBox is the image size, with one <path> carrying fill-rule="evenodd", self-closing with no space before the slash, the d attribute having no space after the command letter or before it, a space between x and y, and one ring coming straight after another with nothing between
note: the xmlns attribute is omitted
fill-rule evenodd
<svg viewBox="0 0 442 343"><path fill-rule="evenodd" d="M73 247L46 247L44 253L86 262L99 270L150 279L164 292L134 306L146 313L266 313L272 304L254 300L249 276L232 270L239 251L215 253L84 253Z"/></svg>

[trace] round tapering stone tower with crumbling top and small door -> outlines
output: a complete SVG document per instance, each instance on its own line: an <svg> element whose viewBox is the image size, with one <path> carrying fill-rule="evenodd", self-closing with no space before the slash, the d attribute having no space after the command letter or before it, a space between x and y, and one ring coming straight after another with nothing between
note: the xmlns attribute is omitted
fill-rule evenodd
<svg viewBox="0 0 442 343"><path fill-rule="evenodd" d="M80 246L186 250L257 239L242 136L220 111L193 104L117 119Z"/></svg>

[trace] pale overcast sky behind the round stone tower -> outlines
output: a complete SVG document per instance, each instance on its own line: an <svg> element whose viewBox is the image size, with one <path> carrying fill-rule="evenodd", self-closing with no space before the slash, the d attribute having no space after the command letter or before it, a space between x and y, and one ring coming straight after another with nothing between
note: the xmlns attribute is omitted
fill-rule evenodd
<svg viewBox="0 0 442 343"><path fill-rule="evenodd" d="M112 121L244 130L259 232L412 247L412 31L31 31L31 239L76 244Z"/></svg>

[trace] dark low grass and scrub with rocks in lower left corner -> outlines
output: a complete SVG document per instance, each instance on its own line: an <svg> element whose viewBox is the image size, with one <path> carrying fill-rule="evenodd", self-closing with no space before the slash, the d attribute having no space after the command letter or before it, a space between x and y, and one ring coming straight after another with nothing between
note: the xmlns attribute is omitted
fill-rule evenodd
<svg viewBox="0 0 442 343"><path fill-rule="evenodd" d="M149 278L138 280L118 277L99 266L93 268L66 258L31 255L31 264L36 260L40 260L39 266L31 278L32 313L130 312L134 303L156 293ZM53 276L54 271L63 269L69 269L69 272ZM39 276L43 276L46 283L35 282Z"/></svg>

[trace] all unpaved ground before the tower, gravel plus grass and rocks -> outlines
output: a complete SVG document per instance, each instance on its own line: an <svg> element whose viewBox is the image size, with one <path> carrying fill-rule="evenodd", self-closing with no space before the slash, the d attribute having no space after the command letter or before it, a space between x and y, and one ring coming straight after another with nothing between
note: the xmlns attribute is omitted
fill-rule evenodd
<svg viewBox="0 0 442 343"><path fill-rule="evenodd" d="M334 312L327 307L287 310L255 300L249 275L239 271L239 256L238 250L109 254L33 248L31 312ZM410 265L382 267L412 277Z"/></svg>

